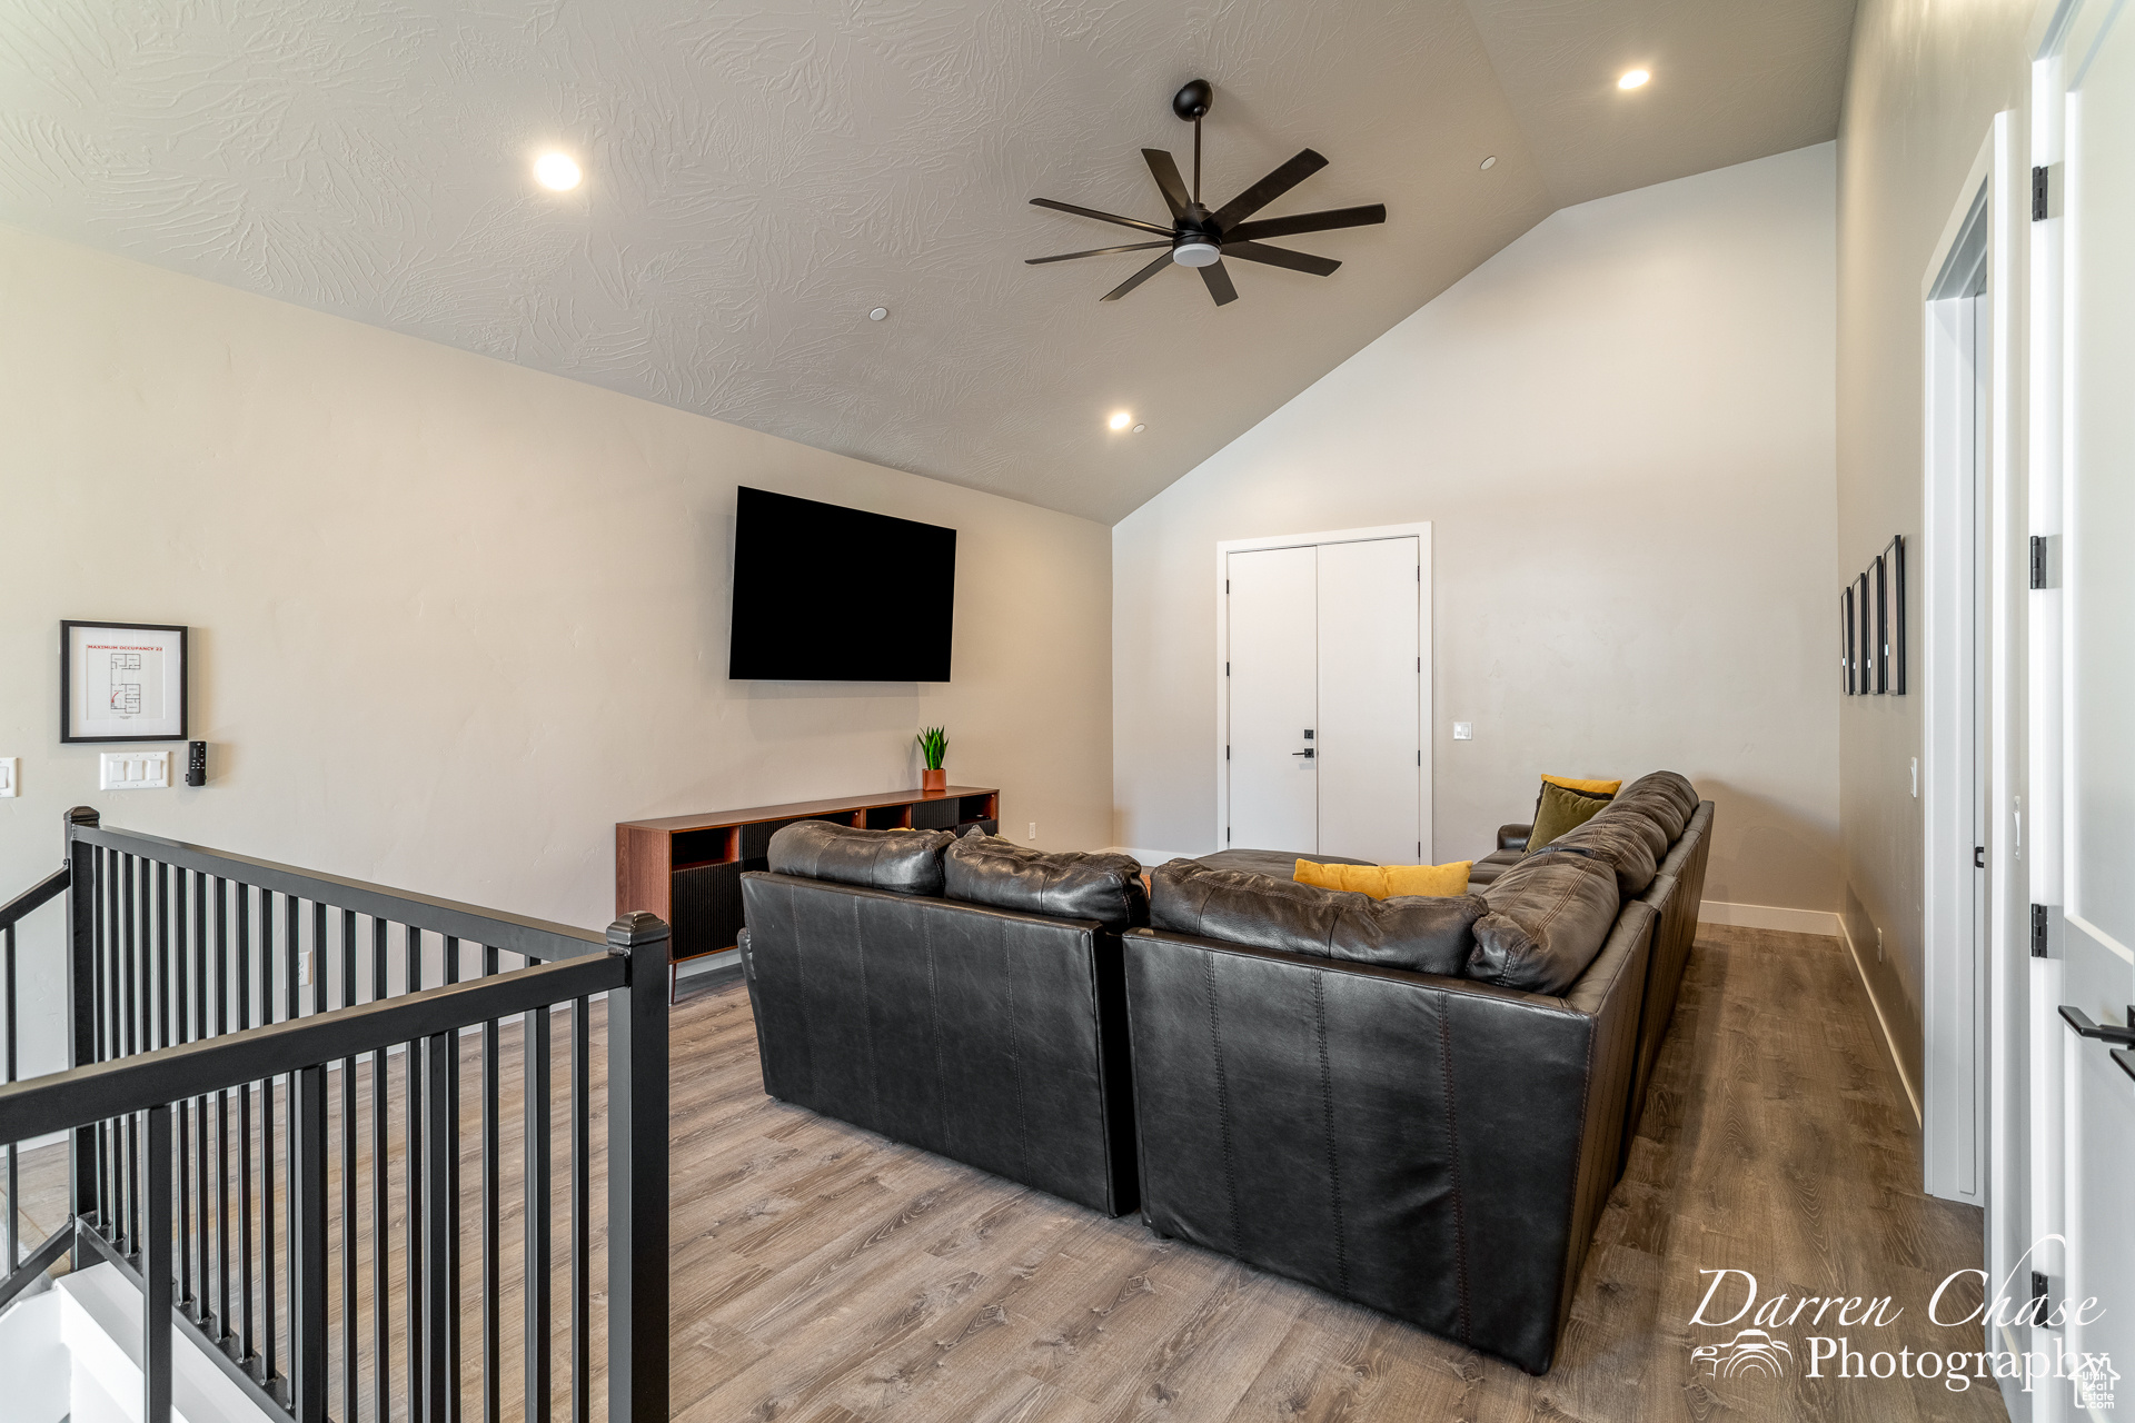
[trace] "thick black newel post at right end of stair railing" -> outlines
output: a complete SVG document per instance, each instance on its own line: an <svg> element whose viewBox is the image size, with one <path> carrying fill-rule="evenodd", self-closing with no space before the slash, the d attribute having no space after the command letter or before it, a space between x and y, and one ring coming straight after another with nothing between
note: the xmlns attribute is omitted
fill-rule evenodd
<svg viewBox="0 0 2135 1423"><path fill-rule="evenodd" d="M608 1423L668 1417L668 926L608 926Z"/></svg>

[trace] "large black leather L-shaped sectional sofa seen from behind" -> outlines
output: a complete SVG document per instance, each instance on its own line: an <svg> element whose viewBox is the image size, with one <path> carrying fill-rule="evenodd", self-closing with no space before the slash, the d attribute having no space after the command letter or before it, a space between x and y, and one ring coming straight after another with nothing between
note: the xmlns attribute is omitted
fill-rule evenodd
<svg viewBox="0 0 2135 1423"><path fill-rule="evenodd" d="M1383 902L794 826L743 879L764 1090L1541 1374L1710 826L1657 772L1480 894Z"/></svg>

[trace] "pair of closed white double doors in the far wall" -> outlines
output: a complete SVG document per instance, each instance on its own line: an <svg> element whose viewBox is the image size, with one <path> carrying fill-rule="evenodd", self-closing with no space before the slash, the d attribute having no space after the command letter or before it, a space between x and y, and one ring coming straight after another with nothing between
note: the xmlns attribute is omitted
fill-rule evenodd
<svg viewBox="0 0 2135 1423"><path fill-rule="evenodd" d="M1430 525L1221 546L1225 849L1430 860Z"/></svg>

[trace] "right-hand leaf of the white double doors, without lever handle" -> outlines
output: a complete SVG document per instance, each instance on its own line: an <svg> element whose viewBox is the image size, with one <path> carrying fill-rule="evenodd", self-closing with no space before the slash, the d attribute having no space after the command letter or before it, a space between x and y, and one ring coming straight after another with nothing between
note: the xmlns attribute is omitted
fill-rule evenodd
<svg viewBox="0 0 2135 1423"><path fill-rule="evenodd" d="M1319 849L1422 856L1418 540L1319 546Z"/></svg>

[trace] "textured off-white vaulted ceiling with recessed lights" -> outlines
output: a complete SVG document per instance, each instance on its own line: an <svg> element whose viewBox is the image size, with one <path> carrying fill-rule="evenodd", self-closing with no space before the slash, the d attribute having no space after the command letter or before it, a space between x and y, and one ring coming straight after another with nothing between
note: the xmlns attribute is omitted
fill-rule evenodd
<svg viewBox="0 0 2135 1423"><path fill-rule="evenodd" d="M1554 207L1832 137L1851 11L9 0L0 220L1112 521ZM1100 305L1144 254L1025 267L1134 239L1033 196L1161 215L1136 149L1187 166L1196 75L1204 196L1309 145L1264 215L1388 224L1283 239L1332 277L1230 262L1221 309L1185 271Z"/></svg>

